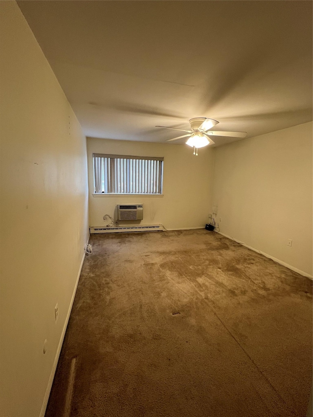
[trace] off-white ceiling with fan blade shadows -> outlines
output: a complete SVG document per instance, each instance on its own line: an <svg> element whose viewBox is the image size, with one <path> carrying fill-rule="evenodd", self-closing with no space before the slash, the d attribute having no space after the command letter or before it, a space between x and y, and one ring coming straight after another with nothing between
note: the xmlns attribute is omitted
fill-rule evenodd
<svg viewBox="0 0 313 417"><path fill-rule="evenodd" d="M312 1L18 4L87 136L165 142L179 132L156 125L209 117L251 137L312 120Z"/></svg>

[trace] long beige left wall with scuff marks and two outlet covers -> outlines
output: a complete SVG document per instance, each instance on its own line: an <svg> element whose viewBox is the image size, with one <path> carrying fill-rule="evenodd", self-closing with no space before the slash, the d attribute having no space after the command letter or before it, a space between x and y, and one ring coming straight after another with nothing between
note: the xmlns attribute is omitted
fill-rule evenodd
<svg viewBox="0 0 313 417"><path fill-rule="evenodd" d="M16 2L0 3L0 416L38 417L89 236L86 138Z"/></svg>

